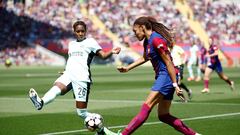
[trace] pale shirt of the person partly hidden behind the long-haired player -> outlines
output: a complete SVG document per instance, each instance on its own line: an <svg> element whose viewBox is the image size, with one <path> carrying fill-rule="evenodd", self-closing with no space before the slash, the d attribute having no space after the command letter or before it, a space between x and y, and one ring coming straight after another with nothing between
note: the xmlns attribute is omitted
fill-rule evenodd
<svg viewBox="0 0 240 135"><path fill-rule="evenodd" d="M182 55L184 55L184 50L180 46L174 45L171 51L174 66L180 66L184 63Z"/></svg>

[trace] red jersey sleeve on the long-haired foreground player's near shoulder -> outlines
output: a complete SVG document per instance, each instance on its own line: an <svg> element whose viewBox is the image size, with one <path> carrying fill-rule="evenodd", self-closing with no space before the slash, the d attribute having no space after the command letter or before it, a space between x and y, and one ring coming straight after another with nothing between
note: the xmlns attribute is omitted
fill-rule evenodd
<svg viewBox="0 0 240 135"><path fill-rule="evenodd" d="M161 38L155 37L152 41L152 44L159 53L169 52L167 42Z"/></svg>

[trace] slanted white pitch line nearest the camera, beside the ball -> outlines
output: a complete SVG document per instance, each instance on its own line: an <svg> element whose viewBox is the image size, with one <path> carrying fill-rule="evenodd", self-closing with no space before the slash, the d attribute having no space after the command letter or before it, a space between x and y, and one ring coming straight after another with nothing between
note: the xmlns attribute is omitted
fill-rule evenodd
<svg viewBox="0 0 240 135"><path fill-rule="evenodd" d="M202 119L210 119L210 118L218 118L218 117L235 116L235 115L240 115L240 112L185 118L185 119L182 119L182 121L202 120ZM155 124L160 124L160 123L162 123L162 122L160 122L160 121L147 122L147 123L144 123L143 125L155 125ZM126 126L127 125L119 125L119 126L111 126L111 127L108 127L108 128L109 129L115 129L115 128L124 128ZM44 134L40 134L40 135L60 135L60 134L69 134L69 133L80 133L80 132L86 132L86 131L87 131L87 129L82 129L82 130L71 130L71 131L63 131L63 132L44 133Z"/></svg>

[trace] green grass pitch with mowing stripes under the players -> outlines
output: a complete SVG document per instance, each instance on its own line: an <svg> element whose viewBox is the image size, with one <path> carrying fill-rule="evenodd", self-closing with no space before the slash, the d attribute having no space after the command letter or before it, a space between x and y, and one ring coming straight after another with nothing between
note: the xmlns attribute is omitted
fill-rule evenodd
<svg viewBox="0 0 240 135"><path fill-rule="evenodd" d="M93 135L77 116L72 92L58 97L41 111L28 98L29 88L40 96L52 86L64 67L0 67L0 135ZM181 103L175 95L171 113L203 135L240 135L240 68L224 69L235 81L236 90L212 74L209 94L201 94L203 82L187 82L193 90L191 102ZM122 130L138 113L153 84L152 67L138 67L129 73L118 73L114 66L92 65L88 109L104 117L113 131ZM136 135L180 135L160 123L154 108Z"/></svg>

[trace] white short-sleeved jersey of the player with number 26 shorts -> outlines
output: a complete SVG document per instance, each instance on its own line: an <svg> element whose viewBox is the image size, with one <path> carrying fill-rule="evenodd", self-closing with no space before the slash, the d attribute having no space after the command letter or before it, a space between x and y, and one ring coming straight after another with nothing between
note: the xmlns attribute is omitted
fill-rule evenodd
<svg viewBox="0 0 240 135"><path fill-rule="evenodd" d="M69 43L65 72L72 81L91 82L90 64L96 52L101 49L101 46L93 38Z"/></svg>

